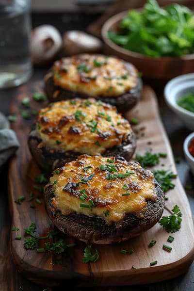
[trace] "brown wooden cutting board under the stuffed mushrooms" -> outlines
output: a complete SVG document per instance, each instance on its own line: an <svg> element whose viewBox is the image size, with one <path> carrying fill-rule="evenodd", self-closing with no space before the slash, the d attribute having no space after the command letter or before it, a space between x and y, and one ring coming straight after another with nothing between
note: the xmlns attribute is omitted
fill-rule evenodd
<svg viewBox="0 0 194 291"><path fill-rule="evenodd" d="M169 199L163 212L163 215L169 215L168 210L177 204L183 214L180 230L172 234L175 238L172 243L167 242L169 233L157 224L141 236L127 242L96 245L99 252L96 263L81 262L85 244L79 241L76 242L76 247L69 248L63 256L52 252L36 253L35 250L26 250L23 247L24 228L30 226L33 221L37 226L37 236L47 235L53 227L44 203L39 205L32 201L35 208L31 208L32 202L28 201L31 191L35 195L39 194L33 189L33 185L40 170L32 161L27 146L32 120L25 121L19 113L22 109L21 100L26 96L32 96L32 91L41 90L40 88L39 83L33 88L21 86L17 97L11 103L11 113L17 115L17 121L12 123L12 128L16 131L21 145L10 162L8 177L12 227L19 228L17 232L12 231L11 236L13 260L18 270L28 279L48 286L57 285L61 280L68 280L71 286L139 285L171 279L185 273L194 259L194 224L190 205L179 178L173 180L175 188L166 193ZM45 104L31 101L32 109L36 110ZM160 119L157 98L150 87L144 87L142 100L126 117L139 120L139 124L133 126L136 132L139 131L136 152L144 154L146 150L152 150L155 153L167 153L167 158L161 159L161 163L154 168L176 173L171 146ZM25 195L26 199L18 205L15 200L21 195ZM42 198L40 200L43 201ZM21 235L21 240L16 240L16 235ZM149 248L151 240L156 240L157 243ZM74 239L67 237L65 241L72 243ZM170 253L164 251L162 244L170 245L172 251ZM43 246L44 243L39 242L37 247ZM121 249L133 249L134 253L125 255L120 253ZM155 260L158 264L150 267L150 262ZM136 269L132 269L132 266Z"/></svg>

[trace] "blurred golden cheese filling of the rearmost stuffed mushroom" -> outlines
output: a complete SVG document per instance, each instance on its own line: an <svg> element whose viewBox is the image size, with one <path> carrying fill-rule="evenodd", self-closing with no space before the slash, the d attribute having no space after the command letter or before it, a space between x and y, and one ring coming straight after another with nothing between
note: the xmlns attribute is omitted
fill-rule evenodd
<svg viewBox="0 0 194 291"><path fill-rule="evenodd" d="M136 68L116 57L82 54L56 61L52 72L54 85L92 97L114 97L137 85ZM57 91L54 97L57 97Z"/></svg>

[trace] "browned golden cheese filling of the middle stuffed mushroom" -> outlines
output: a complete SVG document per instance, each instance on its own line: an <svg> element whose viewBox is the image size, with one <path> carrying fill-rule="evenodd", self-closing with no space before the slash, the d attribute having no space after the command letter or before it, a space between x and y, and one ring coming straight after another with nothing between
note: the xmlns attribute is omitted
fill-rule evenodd
<svg viewBox="0 0 194 291"><path fill-rule="evenodd" d="M129 139L132 129L116 108L94 98L55 102L40 110L36 134L57 151L96 155Z"/></svg>

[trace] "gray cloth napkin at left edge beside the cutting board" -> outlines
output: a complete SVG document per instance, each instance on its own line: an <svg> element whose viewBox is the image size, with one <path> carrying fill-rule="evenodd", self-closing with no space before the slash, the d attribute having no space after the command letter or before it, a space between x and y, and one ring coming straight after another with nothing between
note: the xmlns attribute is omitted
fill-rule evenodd
<svg viewBox="0 0 194 291"><path fill-rule="evenodd" d="M9 121L0 113L0 171L2 165L11 157L19 147L15 132L9 128Z"/></svg>

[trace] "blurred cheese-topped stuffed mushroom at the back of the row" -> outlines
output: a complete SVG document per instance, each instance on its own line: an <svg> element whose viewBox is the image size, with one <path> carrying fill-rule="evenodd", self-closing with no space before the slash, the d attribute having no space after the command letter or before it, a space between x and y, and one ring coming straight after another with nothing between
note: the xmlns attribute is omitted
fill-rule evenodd
<svg viewBox="0 0 194 291"><path fill-rule="evenodd" d="M142 81L138 70L117 57L80 54L56 61L45 76L51 102L94 97L126 112L138 102Z"/></svg>

